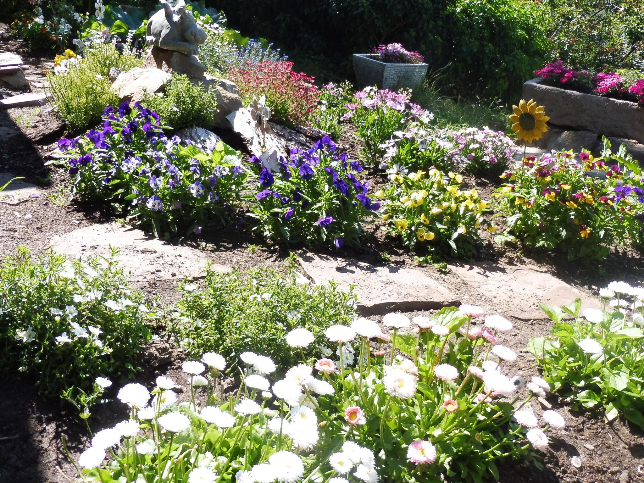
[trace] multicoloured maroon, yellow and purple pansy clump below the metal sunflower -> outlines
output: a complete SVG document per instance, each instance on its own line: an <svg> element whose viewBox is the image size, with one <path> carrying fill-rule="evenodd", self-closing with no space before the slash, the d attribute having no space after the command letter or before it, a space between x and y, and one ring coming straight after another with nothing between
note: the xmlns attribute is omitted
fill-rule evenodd
<svg viewBox="0 0 644 483"><path fill-rule="evenodd" d="M570 258L605 258L609 247L640 245L644 230L641 170L620 149L603 156L582 151L526 156L502 178L498 208L509 231L531 247L556 247Z"/></svg>

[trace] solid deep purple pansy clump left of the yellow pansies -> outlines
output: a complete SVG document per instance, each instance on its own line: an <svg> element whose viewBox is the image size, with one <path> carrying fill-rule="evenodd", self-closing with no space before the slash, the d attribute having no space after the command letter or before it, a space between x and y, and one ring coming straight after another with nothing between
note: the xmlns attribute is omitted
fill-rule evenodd
<svg viewBox="0 0 644 483"><path fill-rule="evenodd" d="M309 244L354 243L363 233L361 220L379 203L368 195L368 182L355 173L363 166L337 153L323 137L307 151L291 149L288 159L273 152L249 160L254 173L254 228L267 238Z"/></svg>

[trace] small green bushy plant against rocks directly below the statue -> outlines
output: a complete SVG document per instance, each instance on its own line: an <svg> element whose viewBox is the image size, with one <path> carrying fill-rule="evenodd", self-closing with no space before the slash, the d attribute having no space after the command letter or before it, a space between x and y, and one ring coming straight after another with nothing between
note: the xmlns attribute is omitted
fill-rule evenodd
<svg viewBox="0 0 644 483"><path fill-rule="evenodd" d="M164 95L149 94L142 104L160 115L173 129L211 128L217 111L216 89L193 84L187 75L174 74Z"/></svg>

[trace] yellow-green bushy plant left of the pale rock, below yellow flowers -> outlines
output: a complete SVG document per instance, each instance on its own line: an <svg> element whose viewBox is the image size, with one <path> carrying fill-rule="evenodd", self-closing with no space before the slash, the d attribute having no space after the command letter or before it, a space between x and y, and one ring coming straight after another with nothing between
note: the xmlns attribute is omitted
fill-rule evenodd
<svg viewBox="0 0 644 483"><path fill-rule="evenodd" d="M117 104L118 96L108 79L112 67L129 70L142 64L131 50L118 52L113 44L96 44L87 50L85 59L70 64L66 73L48 71L53 103L71 131L94 126L106 107Z"/></svg>

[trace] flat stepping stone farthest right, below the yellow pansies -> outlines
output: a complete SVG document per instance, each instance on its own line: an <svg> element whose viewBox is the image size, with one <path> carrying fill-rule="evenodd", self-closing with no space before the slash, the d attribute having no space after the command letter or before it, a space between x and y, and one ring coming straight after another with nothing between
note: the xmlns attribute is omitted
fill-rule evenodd
<svg viewBox="0 0 644 483"><path fill-rule="evenodd" d="M504 263L467 263L450 265L451 271L495 305L507 305L508 316L521 320L549 319L540 303L560 307L576 298L582 308L600 308L599 298L587 296L581 290L556 278L535 265L506 265ZM471 301L484 305L480 301Z"/></svg>

